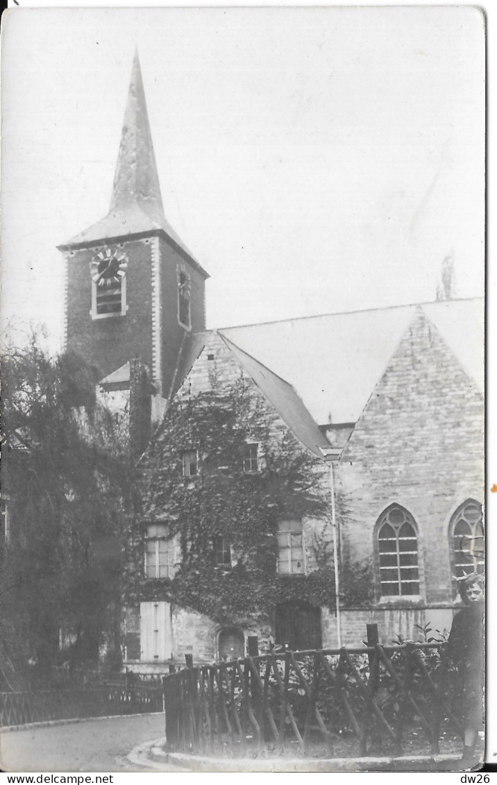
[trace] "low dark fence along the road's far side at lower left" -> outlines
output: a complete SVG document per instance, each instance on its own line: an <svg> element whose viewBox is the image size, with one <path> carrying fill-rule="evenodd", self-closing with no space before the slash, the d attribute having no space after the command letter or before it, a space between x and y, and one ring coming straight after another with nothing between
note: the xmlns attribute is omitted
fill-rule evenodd
<svg viewBox="0 0 497 785"><path fill-rule="evenodd" d="M0 692L0 725L111 717L163 710L161 685L99 685L84 688Z"/></svg>

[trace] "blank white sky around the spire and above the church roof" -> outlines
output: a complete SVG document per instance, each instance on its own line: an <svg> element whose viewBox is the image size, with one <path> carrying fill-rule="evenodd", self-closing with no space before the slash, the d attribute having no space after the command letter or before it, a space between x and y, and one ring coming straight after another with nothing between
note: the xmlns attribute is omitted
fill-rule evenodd
<svg viewBox="0 0 497 785"><path fill-rule="evenodd" d="M483 293L471 7L15 9L2 31L2 318L60 338L58 243L108 212L135 45L166 217L209 327ZM57 293L57 296L55 296Z"/></svg>

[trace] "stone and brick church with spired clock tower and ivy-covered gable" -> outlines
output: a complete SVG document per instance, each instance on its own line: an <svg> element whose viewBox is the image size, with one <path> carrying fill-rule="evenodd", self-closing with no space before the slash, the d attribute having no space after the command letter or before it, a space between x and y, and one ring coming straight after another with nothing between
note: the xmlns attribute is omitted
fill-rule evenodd
<svg viewBox="0 0 497 785"><path fill-rule="evenodd" d="M123 666L450 629L483 568L483 301L206 330L137 56L108 215L59 250L64 348L98 369L136 462Z"/></svg>

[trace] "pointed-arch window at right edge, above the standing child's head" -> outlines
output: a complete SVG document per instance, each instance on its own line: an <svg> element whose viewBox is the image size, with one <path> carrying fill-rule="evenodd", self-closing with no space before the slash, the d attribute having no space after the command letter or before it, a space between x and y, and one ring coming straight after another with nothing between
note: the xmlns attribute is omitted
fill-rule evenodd
<svg viewBox="0 0 497 785"><path fill-rule="evenodd" d="M484 571L484 535L481 504L468 498L456 509L449 526L455 577Z"/></svg>

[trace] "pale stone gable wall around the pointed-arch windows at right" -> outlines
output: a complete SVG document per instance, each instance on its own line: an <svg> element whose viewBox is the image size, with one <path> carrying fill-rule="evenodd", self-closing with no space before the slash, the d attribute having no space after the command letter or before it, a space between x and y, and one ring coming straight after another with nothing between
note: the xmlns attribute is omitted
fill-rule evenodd
<svg viewBox="0 0 497 785"><path fill-rule="evenodd" d="M393 503L403 506L417 527L417 604L450 605L449 522L467 498L484 498L484 407L421 311L364 408L335 479L345 552L371 557L378 517ZM376 601L380 595L377 586ZM402 597L395 602L412 604Z"/></svg>

